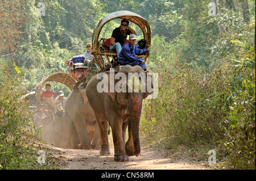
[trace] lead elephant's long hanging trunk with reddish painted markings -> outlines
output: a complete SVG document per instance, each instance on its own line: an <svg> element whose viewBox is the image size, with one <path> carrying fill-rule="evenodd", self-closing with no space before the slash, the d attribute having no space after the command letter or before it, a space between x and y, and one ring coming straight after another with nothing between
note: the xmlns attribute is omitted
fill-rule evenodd
<svg viewBox="0 0 256 181"><path fill-rule="evenodd" d="M139 121L141 120L142 96L139 93L131 95L131 101L128 102L130 112L131 133L133 136L134 154L136 157L141 153L141 144L139 142Z"/></svg>

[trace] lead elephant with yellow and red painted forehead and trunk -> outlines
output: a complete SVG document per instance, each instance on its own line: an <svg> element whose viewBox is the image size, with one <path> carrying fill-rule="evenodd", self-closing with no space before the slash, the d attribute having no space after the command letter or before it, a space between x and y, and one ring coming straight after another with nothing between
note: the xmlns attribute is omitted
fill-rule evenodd
<svg viewBox="0 0 256 181"><path fill-rule="evenodd" d="M114 73L114 75L112 75ZM112 79L118 75L125 75L120 81ZM137 81L130 75L143 75L147 79ZM101 155L109 155L108 125L112 128L114 142L114 161L129 161L130 156L141 153L139 140L139 121L141 119L142 101L153 92L152 77L146 74L141 66L125 65L121 70L105 71L102 73L103 80L95 75L86 85L86 95L90 106L96 115L98 127L101 133ZM143 77L142 76L142 77ZM105 77L105 78L104 78ZM147 83L149 86L147 86ZM151 86L150 86L151 85ZM104 91L102 91L102 86ZM105 86L105 87L104 87ZM113 90L113 87L117 89ZM119 89L118 89L119 87ZM135 87L139 88L137 91ZM111 91L112 89L112 91ZM122 91L120 91L122 89ZM144 90L144 91L142 91ZM128 126L129 139L125 138Z"/></svg>

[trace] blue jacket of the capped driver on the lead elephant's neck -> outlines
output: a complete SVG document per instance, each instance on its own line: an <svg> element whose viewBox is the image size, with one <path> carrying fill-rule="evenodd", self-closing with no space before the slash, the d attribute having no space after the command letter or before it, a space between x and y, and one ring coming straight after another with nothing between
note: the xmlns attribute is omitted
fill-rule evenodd
<svg viewBox="0 0 256 181"><path fill-rule="evenodd" d="M135 55L141 55L147 53L148 49L139 49L135 45L131 47L130 42L125 44L118 55L118 62L120 65L140 65L143 58L135 58Z"/></svg>

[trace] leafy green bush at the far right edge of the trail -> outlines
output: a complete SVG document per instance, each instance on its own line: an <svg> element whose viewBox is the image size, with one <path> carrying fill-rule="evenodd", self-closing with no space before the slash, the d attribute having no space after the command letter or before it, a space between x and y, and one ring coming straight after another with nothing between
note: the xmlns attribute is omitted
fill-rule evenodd
<svg viewBox="0 0 256 181"><path fill-rule="evenodd" d="M224 148L234 169L255 169L255 49L245 50L233 77L229 117L222 123Z"/></svg>

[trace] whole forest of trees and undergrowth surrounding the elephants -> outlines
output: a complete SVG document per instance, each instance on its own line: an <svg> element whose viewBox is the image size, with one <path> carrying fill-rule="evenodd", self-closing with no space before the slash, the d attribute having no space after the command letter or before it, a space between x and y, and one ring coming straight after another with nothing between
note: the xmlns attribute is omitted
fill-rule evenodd
<svg viewBox="0 0 256 181"><path fill-rule="evenodd" d="M143 101L142 139L190 154L214 149L228 169L255 169L255 0L9 0L0 1L0 170L49 169L35 163L38 132L19 98L68 73L101 18L120 10L151 26L146 64L158 96ZM70 92L53 84L59 90Z"/></svg>

